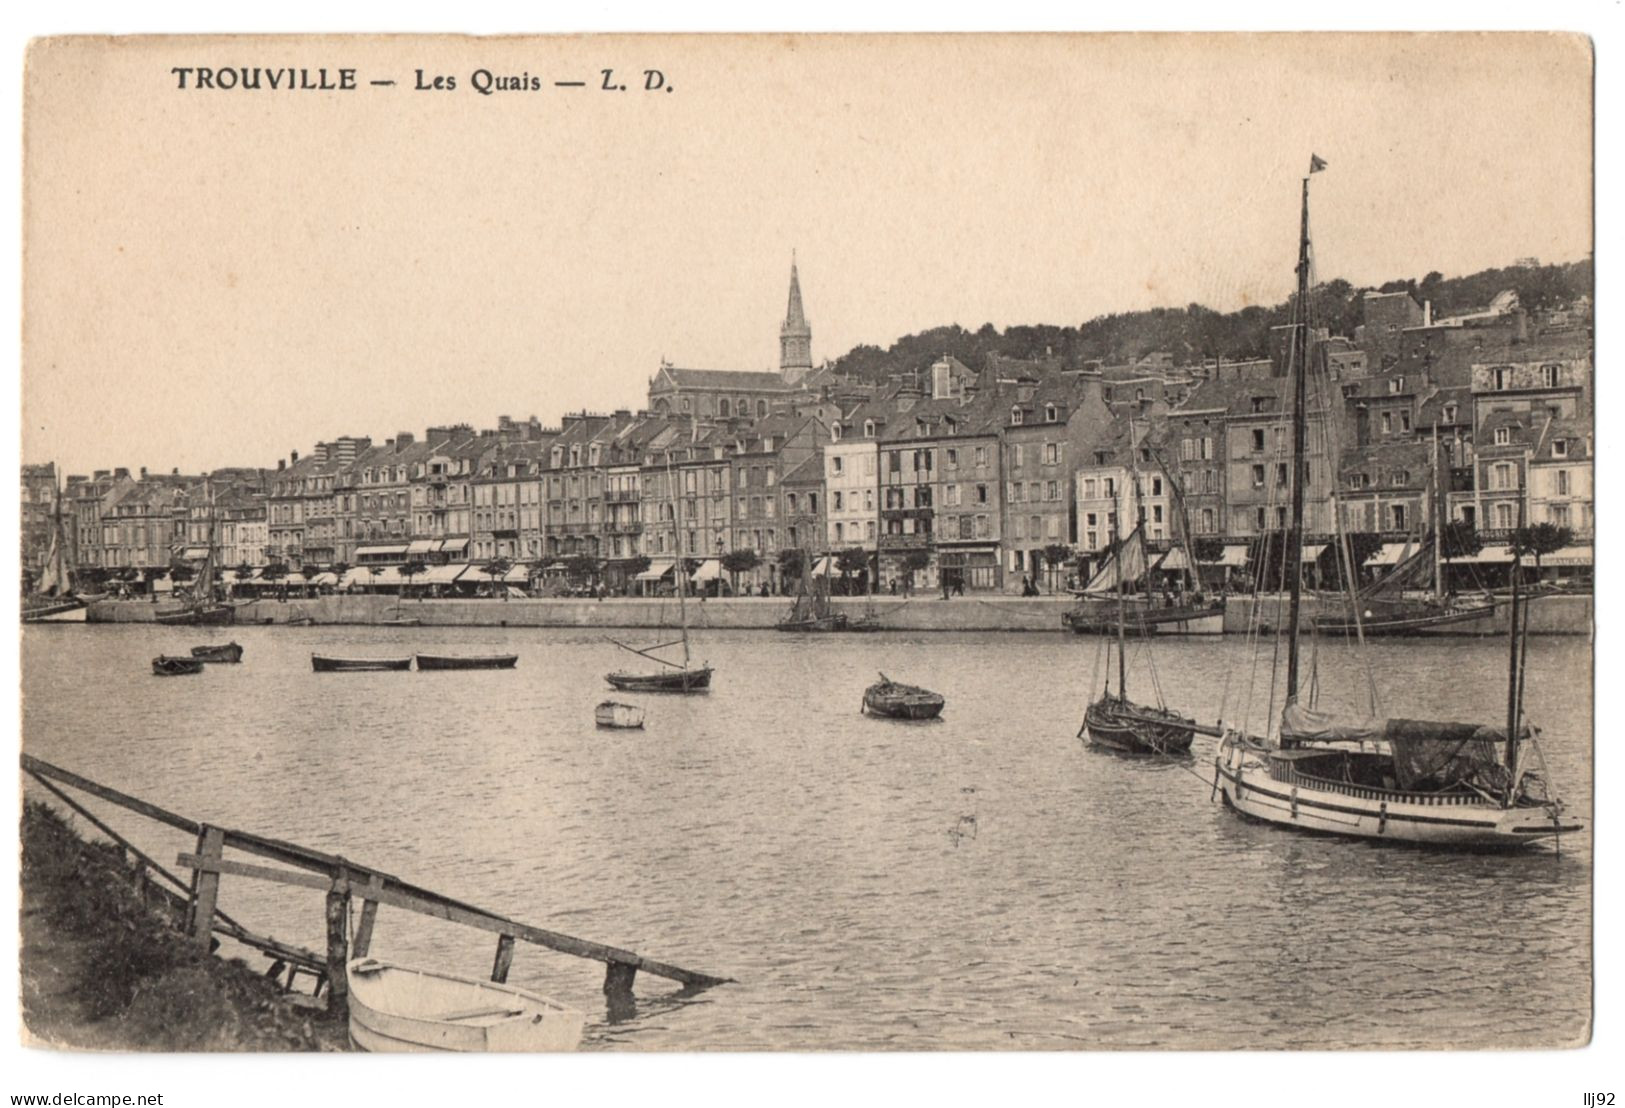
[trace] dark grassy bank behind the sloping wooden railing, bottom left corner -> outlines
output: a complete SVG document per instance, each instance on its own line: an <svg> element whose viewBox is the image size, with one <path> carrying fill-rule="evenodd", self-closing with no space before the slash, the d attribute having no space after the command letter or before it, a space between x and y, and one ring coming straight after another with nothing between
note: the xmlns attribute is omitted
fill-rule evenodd
<svg viewBox="0 0 1625 1108"><path fill-rule="evenodd" d="M202 952L143 898L119 850L55 809L23 811L23 1024L41 1046L140 1051L343 1050L240 960Z"/></svg>

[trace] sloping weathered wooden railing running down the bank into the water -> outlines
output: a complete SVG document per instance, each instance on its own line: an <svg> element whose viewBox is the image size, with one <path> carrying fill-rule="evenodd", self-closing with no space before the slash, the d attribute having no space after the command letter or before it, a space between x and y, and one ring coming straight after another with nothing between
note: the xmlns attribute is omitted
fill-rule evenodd
<svg viewBox="0 0 1625 1108"><path fill-rule="evenodd" d="M28 754L21 755L23 772L39 781L52 796L83 816L101 833L112 838L127 858L133 861L143 879L143 889L158 895L166 910L180 923L198 946L213 949L218 946L216 934L231 937L236 942L260 950L271 959L268 976L281 980L286 973L284 988L292 988L297 975L304 973L315 980L314 994L327 994L328 1011L344 1014L348 1011L348 980L344 965L349 959L362 957L372 944L372 933L377 924L379 905L414 911L418 915L447 920L466 928L486 931L497 936L496 954L491 963L491 980L505 981L514 965L515 942L523 939L533 946L569 954L578 959L592 959L604 963L604 994L611 1002L624 999L632 991L632 983L639 972L652 973L679 983L684 991L699 993L715 985L726 985L731 978L715 976L684 970L678 965L647 959L634 950L577 939L575 936L536 928L518 920L510 920L500 913L478 908L471 903L453 900L431 889L401 881L395 874L384 872L372 866L351 861L338 855L328 855L297 843L255 835L254 832L234 830L202 824L185 816L179 816L158 804L150 804L136 796L120 793L80 777L70 770L42 762ZM166 869L156 859L141 853L125 837L119 835L104 820L73 799L62 786L86 793L98 799L115 804L130 812L143 816L158 824L185 832L197 838L197 848L176 858L180 869L190 871L190 879L182 879ZM229 859L226 850L236 850L260 859L278 863L266 866ZM280 942L268 936L255 934L237 920L219 908L221 877L249 877L270 881L283 885L314 889L325 894L323 926L327 933L327 950L317 954L302 947ZM361 900L361 916L349 933L351 900Z"/></svg>

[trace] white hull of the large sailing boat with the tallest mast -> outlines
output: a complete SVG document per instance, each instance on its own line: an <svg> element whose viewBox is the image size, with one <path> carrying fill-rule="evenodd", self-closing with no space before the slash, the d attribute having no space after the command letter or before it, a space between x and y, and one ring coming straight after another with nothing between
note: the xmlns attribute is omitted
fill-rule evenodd
<svg viewBox="0 0 1625 1108"><path fill-rule="evenodd" d="M1285 780L1282 780L1285 778ZM1519 850L1584 830L1537 806L1502 807L1480 796L1427 794L1305 781L1271 772L1268 751L1219 744L1214 788L1233 811L1280 827L1458 850Z"/></svg>

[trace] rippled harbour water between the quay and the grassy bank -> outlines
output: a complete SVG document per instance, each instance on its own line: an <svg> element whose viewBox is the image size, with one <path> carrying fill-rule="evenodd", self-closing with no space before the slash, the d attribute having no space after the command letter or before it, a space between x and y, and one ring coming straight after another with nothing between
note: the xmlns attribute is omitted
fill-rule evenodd
<svg viewBox="0 0 1625 1108"><path fill-rule="evenodd" d="M158 653L226 638L242 664L151 674ZM640 975L635 1006L611 1014L600 963L520 944L509 980L585 1009L588 1050L1584 1041L1589 832L1456 855L1245 822L1211 801L1212 739L1173 762L1076 738L1098 647L707 630L708 695L619 695L647 728L600 731L603 674L644 663L588 629L29 625L24 751L193 819L736 978L682 998ZM520 661L310 671L312 651L414 650ZM1503 721L1502 640L1368 656L1393 715ZM1131 695L1160 687L1204 721L1254 666L1242 637L1165 638L1155 674L1144 651L1131 660ZM878 671L946 694L942 718L860 715ZM1323 650L1318 679L1323 703L1360 703L1341 650ZM1531 642L1529 715L1588 827L1589 682L1586 640ZM193 846L94 809L164 864ZM322 949L318 892L226 877L221 908ZM494 947L385 907L372 952L484 976Z"/></svg>

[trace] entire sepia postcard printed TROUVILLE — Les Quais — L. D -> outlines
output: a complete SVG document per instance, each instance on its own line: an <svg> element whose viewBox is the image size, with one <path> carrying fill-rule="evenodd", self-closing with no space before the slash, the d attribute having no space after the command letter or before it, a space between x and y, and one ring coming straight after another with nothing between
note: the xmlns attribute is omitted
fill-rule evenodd
<svg viewBox="0 0 1625 1108"><path fill-rule="evenodd" d="M21 1045L1586 1048L1594 63L34 39Z"/></svg>

